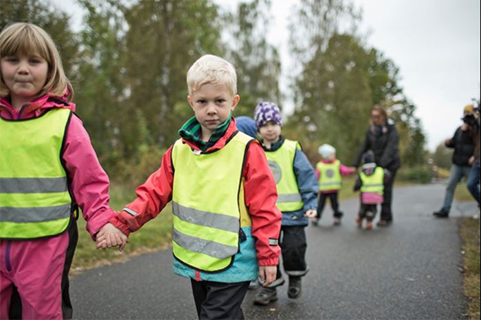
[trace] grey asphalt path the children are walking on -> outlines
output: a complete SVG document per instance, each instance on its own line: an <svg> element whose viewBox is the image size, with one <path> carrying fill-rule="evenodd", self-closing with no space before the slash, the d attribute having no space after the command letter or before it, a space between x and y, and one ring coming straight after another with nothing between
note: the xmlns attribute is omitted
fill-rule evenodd
<svg viewBox="0 0 481 320"><path fill-rule="evenodd" d="M460 186L462 187L462 186ZM462 263L457 219L434 219L441 185L394 190L394 224L358 230L357 199L342 201L343 224L331 208L309 226L302 297L267 307L243 304L246 319L463 319ZM473 201L454 203L451 216L478 212ZM172 274L171 251L158 251L72 277L76 319L197 319L188 280Z"/></svg>

